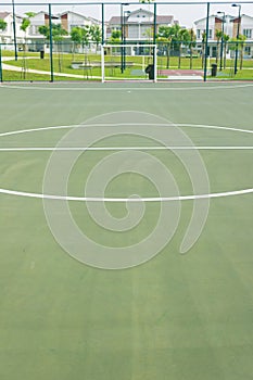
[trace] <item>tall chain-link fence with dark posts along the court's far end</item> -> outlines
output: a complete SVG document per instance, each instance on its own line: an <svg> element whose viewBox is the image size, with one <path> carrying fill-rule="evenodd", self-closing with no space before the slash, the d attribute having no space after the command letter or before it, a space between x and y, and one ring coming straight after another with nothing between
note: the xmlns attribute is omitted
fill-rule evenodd
<svg viewBox="0 0 253 380"><path fill-rule="evenodd" d="M1 81L149 80L149 45L157 80L252 80L253 2L0 5Z"/></svg>

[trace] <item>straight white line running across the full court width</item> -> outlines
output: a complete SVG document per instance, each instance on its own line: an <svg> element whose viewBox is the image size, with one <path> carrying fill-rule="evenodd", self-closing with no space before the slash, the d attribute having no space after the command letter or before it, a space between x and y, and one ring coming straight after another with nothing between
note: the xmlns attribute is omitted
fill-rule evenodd
<svg viewBox="0 0 253 380"><path fill-rule="evenodd" d="M56 148L56 147L37 147L37 148L0 148L0 152L47 152L47 151L156 151L156 150L253 150L253 147L72 147L72 148Z"/></svg>

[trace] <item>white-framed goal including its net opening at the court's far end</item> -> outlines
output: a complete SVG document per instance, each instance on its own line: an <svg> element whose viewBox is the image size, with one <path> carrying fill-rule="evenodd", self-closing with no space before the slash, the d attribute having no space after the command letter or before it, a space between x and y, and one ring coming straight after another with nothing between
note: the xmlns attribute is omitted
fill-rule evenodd
<svg viewBox="0 0 253 380"><path fill-rule="evenodd" d="M157 78L155 45L103 45L102 81L153 80Z"/></svg>

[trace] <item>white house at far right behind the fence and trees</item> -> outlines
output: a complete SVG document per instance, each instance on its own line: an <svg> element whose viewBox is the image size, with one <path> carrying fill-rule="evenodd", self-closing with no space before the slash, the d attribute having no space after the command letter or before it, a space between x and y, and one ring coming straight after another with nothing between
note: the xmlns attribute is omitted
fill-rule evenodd
<svg viewBox="0 0 253 380"><path fill-rule="evenodd" d="M237 37L239 23L239 34L246 37L244 46L244 54L248 56L253 55L253 17L242 14L240 21L238 17L225 14L224 17L219 15L211 15L208 18L208 48L207 55L216 58L217 55L217 37L216 30L228 35L230 39ZM194 22L195 35L197 35L197 48L201 51L203 33L206 31L206 17L200 18ZM235 54L235 50L230 51L230 55Z"/></svg>

